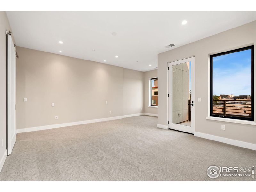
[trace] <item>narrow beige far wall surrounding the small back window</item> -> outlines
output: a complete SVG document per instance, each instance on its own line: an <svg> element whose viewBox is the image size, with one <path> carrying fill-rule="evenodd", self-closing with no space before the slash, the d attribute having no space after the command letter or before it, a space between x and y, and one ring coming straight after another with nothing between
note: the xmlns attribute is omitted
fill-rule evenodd
<svg viewBox="0 0 256 192"><path fill-rule="evenodd" d="M157 114L157 108L156 107L148 107L149 103L149 79L157 77L157 69L152 71L146 71L144 72L144 112L145 113L152 113ZM158 92L159 94L159 92ZM159 102L159 98L158 98Z"/></svg>

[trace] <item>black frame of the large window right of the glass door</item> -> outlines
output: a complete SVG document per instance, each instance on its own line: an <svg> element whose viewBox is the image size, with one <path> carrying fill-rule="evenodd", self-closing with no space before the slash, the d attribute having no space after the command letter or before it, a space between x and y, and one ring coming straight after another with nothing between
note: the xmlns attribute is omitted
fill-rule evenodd
<svg viewBox="0 0 256 192"><path fill-rule="evenodd" d="M224 116L224 115L216 115L213 114L213 58L220 55L226 55L229 53L240 52L244 50L251 49L251 117L239 117L239 116ZM254 46L247 46L239 49L234 49L231 51L221 52L217 54L210 55L210 116L212 117L221 117L221 118L229 118L229 119L240 119L247 121L254 121Z"/></svg>

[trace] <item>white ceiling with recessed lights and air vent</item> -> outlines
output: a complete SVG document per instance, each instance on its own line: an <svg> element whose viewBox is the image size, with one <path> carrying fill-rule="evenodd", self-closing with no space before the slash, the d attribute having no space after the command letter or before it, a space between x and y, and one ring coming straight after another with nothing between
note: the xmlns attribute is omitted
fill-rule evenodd
<svg viewBox="0 0 256 192"><path fill-rule="evenodd" d="M255 11L8 11L7 16L17 46L139 71L157 67L158 53L256 20ZM183 20L188 23L181 25ZM168 44L175 46L166 49Z"/></svg>

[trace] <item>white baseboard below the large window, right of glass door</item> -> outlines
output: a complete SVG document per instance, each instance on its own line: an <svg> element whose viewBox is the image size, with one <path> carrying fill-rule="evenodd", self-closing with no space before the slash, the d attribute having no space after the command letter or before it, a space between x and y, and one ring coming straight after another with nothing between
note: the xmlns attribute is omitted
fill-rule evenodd
<svg viewBox="0 0 256 192"><path fill-rule="evenodd" d="M209 134L200 133L200 132L195 132L194 135L196 137L202 137L204 139L219 141L219 142L222 142L222 143L227 143L227 144L235 145L235 146L238 146L238 147L243 147L243 148L247 148L247 149L256 150L256 144L253 144L253 143L247 143L247 142L244 142L244 141L228 139L228 138L225 138L225 137L219 137L219 136L209 135Z"/></svg>

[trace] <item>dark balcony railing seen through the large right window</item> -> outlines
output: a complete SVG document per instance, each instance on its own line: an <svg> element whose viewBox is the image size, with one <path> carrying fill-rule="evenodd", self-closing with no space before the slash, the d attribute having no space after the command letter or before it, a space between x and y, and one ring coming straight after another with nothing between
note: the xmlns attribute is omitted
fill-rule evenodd
<svg viewBox="0 0 256 192"><path fill-rule="evenodd" d="M251 117L251 100L213 100L213 114Z"/></svg>

